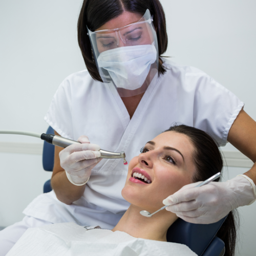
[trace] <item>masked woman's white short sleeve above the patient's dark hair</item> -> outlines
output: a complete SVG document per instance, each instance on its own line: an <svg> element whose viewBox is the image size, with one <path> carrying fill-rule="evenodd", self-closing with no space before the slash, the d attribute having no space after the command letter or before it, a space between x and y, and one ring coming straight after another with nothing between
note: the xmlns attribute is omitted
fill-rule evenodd
<svg viewBox="0 0 256 256"><path fill-rule="evenodd" d="M234 120L244 103L220 83L195 68L186 74L188 83L196 84L193 123L225 146ZM200 74L201 73L201 74ZM189 84L187 84L189 88Z"/></svg>

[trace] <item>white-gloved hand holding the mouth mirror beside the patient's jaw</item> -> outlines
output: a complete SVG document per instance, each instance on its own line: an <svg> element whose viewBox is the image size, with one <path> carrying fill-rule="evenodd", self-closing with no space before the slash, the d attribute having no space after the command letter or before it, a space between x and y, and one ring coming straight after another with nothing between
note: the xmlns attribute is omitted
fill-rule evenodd
<svg viewBox="0 0 256 256"><path fill-rule="evenodd" d="M249 205L256 199L256 186L245 175L195 187L200 183L185 185L164 199L163 204L170 205L165 209L184 221L209 224L224 218L234 208Z"/></svg>

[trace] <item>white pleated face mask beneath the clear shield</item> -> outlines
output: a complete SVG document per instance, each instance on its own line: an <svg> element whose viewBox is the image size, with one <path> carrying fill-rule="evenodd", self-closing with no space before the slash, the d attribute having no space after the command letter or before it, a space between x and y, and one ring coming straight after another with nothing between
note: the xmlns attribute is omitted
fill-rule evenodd
<svg viewBox="0 0 256 256"><path fill-rule="evenodd" d="M157 59L152 45L126 46L99 54L99 68L107 70L118 88L135 90L142 86L151 64Z"/></svg>

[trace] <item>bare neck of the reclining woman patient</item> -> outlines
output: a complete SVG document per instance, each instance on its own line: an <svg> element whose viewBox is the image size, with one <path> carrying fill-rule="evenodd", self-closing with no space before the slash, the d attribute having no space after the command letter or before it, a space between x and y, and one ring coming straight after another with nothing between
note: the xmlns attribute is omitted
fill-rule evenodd
<svg viewBox="0 0 256 256"><path fill-rule="evenodd" d="M177 216L162 210L147 218L140 215L141 210L131 205L112 231L123 231L135 238L166 241L167 230L177 220Z"/></svg>

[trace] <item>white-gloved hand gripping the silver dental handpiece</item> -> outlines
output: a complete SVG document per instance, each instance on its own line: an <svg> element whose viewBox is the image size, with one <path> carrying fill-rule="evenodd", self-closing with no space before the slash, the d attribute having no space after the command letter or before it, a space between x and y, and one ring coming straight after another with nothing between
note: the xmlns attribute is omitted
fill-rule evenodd
<svg viewBox="0 0 256 256"><path fill-rule="evenodd" d="M81 144L66 147L59 153L59 159L69 181L82 186L88 182L92 168L101 160L100 146L91 144L87 136L80 136L77 141Z"/></svg>

